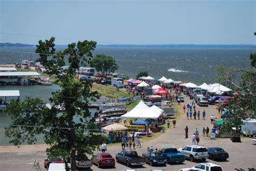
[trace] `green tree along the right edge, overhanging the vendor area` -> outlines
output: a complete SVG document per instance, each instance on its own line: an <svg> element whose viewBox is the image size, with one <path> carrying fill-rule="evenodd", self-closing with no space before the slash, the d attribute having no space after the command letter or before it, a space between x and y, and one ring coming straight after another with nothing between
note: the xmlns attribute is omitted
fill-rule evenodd
<svg viewBox="0 0 256 171"><path fill-rule="evenodd" d="M223 132L230 132L231 127L241 130L242 120L256 118L255 56L255 53L250 55L251 68L248 70L232 69L232 72L228 72L228 69L223 70L221 79L230 84L234 92L238 92L238 95L234 96L234 100L227 107L224 125L221 127ZM241 74L240 79L235 79L238 77L237 74Z"/></svg>

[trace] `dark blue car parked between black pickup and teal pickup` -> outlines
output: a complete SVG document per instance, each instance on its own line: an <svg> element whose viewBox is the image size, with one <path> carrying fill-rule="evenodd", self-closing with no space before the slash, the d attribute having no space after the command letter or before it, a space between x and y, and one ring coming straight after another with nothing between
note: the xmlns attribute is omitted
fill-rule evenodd
<svg viewBox="0 0 256 171"><path fill-rule="evenodd" d="M143 153L142 156L145 158L146 163L150 166L153 165L166 165L167 160L161 153Z"/></svg>

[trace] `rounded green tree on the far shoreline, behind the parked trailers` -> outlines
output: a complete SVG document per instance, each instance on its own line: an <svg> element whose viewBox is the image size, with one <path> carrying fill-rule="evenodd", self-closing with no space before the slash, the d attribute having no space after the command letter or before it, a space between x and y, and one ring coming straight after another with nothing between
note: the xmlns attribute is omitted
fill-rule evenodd
<svg viewBox="0 0 256 171"><path fill-rule="evenodd" d="M110 74L118 69L116 60L112 56L106 56L104 54L97 54L91 61L91 67L102 74Z"/></svg>

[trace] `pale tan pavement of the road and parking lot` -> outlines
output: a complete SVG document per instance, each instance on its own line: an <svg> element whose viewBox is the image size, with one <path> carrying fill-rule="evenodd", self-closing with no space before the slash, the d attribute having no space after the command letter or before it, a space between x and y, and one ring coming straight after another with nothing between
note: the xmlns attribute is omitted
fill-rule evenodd
<svg viewBox="0 0 256 171"><path fill-rule="evenodd" d="M188 98L185 98L185 103L190 101ZM154 148L163 148L163 147L184 147L186 145L190 145L192 143L191 138L185 139L185 131L184 128L187 125L189 128L190 137L194 132L194 129L197 127L202 134L203 127L209 126L210 129L212 125L210 124L210 116L217 116L217 110L215 110L215 106L211 105L208 107L196 107L196 110L206 111L206 120L187 120L185 113L183 113L180 119L177 122L177 128L168 129L163 136L148 141L142 144L142 148L137 148L139 155L146 151L147 147L153 145ZM199 145L203 145L205 147L213 147L219 146L223 147L229 154L230 158L227 161L217 162L207 159L207 162L219 163L224 170L234 170L234 168L256 168L256 144L249 138L243 138L242 143L232 143L230 139L217 139L210 140L210 138L203 138L200 136ZM41 164L42 170L46 170L43 168L43 161L46 158L45 152L42 150L46 146L25 146L20 149L14 148L4 148L0 147L0 170L33 170L32 163L33 159L38 159ZM120 152L121 146L113 146L109 147L108 151L113 156ZM181 168L187 168L196 166L197 162L190 162L186 160L183 164L168 164L166 167L151 167L149 165L144 165L141 168L136 168L137 170L151 170L151 169L165 169L165 170L179 170ZM116 168L97 168L96 166L92 166L91 170L123 170L129 169L125 165L120 163L116 164Z"/></svg>

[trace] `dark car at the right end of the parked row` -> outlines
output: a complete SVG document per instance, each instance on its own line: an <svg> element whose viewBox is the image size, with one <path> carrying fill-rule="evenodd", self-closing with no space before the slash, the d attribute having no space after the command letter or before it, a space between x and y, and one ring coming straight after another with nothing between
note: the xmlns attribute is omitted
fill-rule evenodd
<svg viewBox="0 0 256 171"><path fill-rule="evenodd" d="M229 158L228 153L220 147L207 148L208 158L212 160L227 160Z"/></svg>

